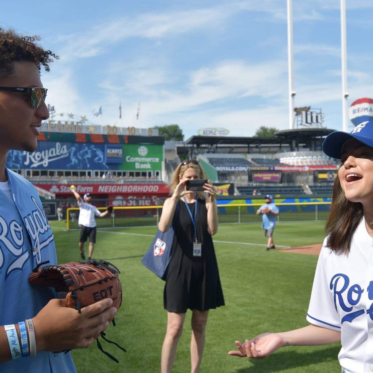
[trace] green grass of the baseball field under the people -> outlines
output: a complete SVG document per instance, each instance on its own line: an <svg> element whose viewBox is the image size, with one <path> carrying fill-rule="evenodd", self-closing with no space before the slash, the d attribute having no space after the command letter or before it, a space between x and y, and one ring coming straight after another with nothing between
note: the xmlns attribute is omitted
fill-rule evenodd
<svg viewBox="0 0 373 373"><path fill-rule="evenodd" d="M324 225L324 221L280 222L274 233L276 248L321 243ZM51 221L51 226L59 263L79 260L79 231L66 231L64 222ZM108 327L107 338L127 352L102 341L104 350L119 360L117 364L102 354L95 342L86 350L72 351L79 373L160 371L167 319L163 309L164 282L140 262L155 233L155 226L98 229L93 257L115 264L121 271L123 286L116 327ZM305 315L317 256L266 251L260 223L221 224L214 245L226 305L209 313L200 372L339 372L339 343L285 347L262 360L228 355L228 351L235 349L236 339L242 342L263 332L307 325ZM88 246L86 253L87 250ZM188 311L173 368L175 373L190 372L190 316Z"/></svg>

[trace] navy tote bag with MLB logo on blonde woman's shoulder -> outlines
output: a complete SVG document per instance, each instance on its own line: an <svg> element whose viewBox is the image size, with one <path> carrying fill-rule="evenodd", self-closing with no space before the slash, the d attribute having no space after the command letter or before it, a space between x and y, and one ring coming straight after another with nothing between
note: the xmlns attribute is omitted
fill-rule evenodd
<svg viewBox="0 0 373 373"><path fill-rule="evenodd" d="M179 214L180 201L176 205L175 214L172 218L172 224L167 232L161 232L158 229L156 236L153 239L148 251L142 257L141 263L149 268L162 280L166 280L167 267L171 258L173 238L175 236L174 224L175 219Z"/></svg>

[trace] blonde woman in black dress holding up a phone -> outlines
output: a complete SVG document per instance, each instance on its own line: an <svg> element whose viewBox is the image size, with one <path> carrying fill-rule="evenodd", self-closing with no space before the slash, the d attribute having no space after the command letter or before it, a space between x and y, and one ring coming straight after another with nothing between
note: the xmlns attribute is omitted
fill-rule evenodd
<svg viewBox="0 0 373 373"><path fill-rule="evenodd" d="M203 191L186 190L187 181L205 178L196 160L179 164L170 185L171 197L164 202L158 225L160 231L166 232L179 204L163 293L167 331L162 346L162 373L172 370L188 309L192 310L191 372L199 372L207 315L211 308L224 305L212 240L218 227L216 189L207 181Z"/></svg>

